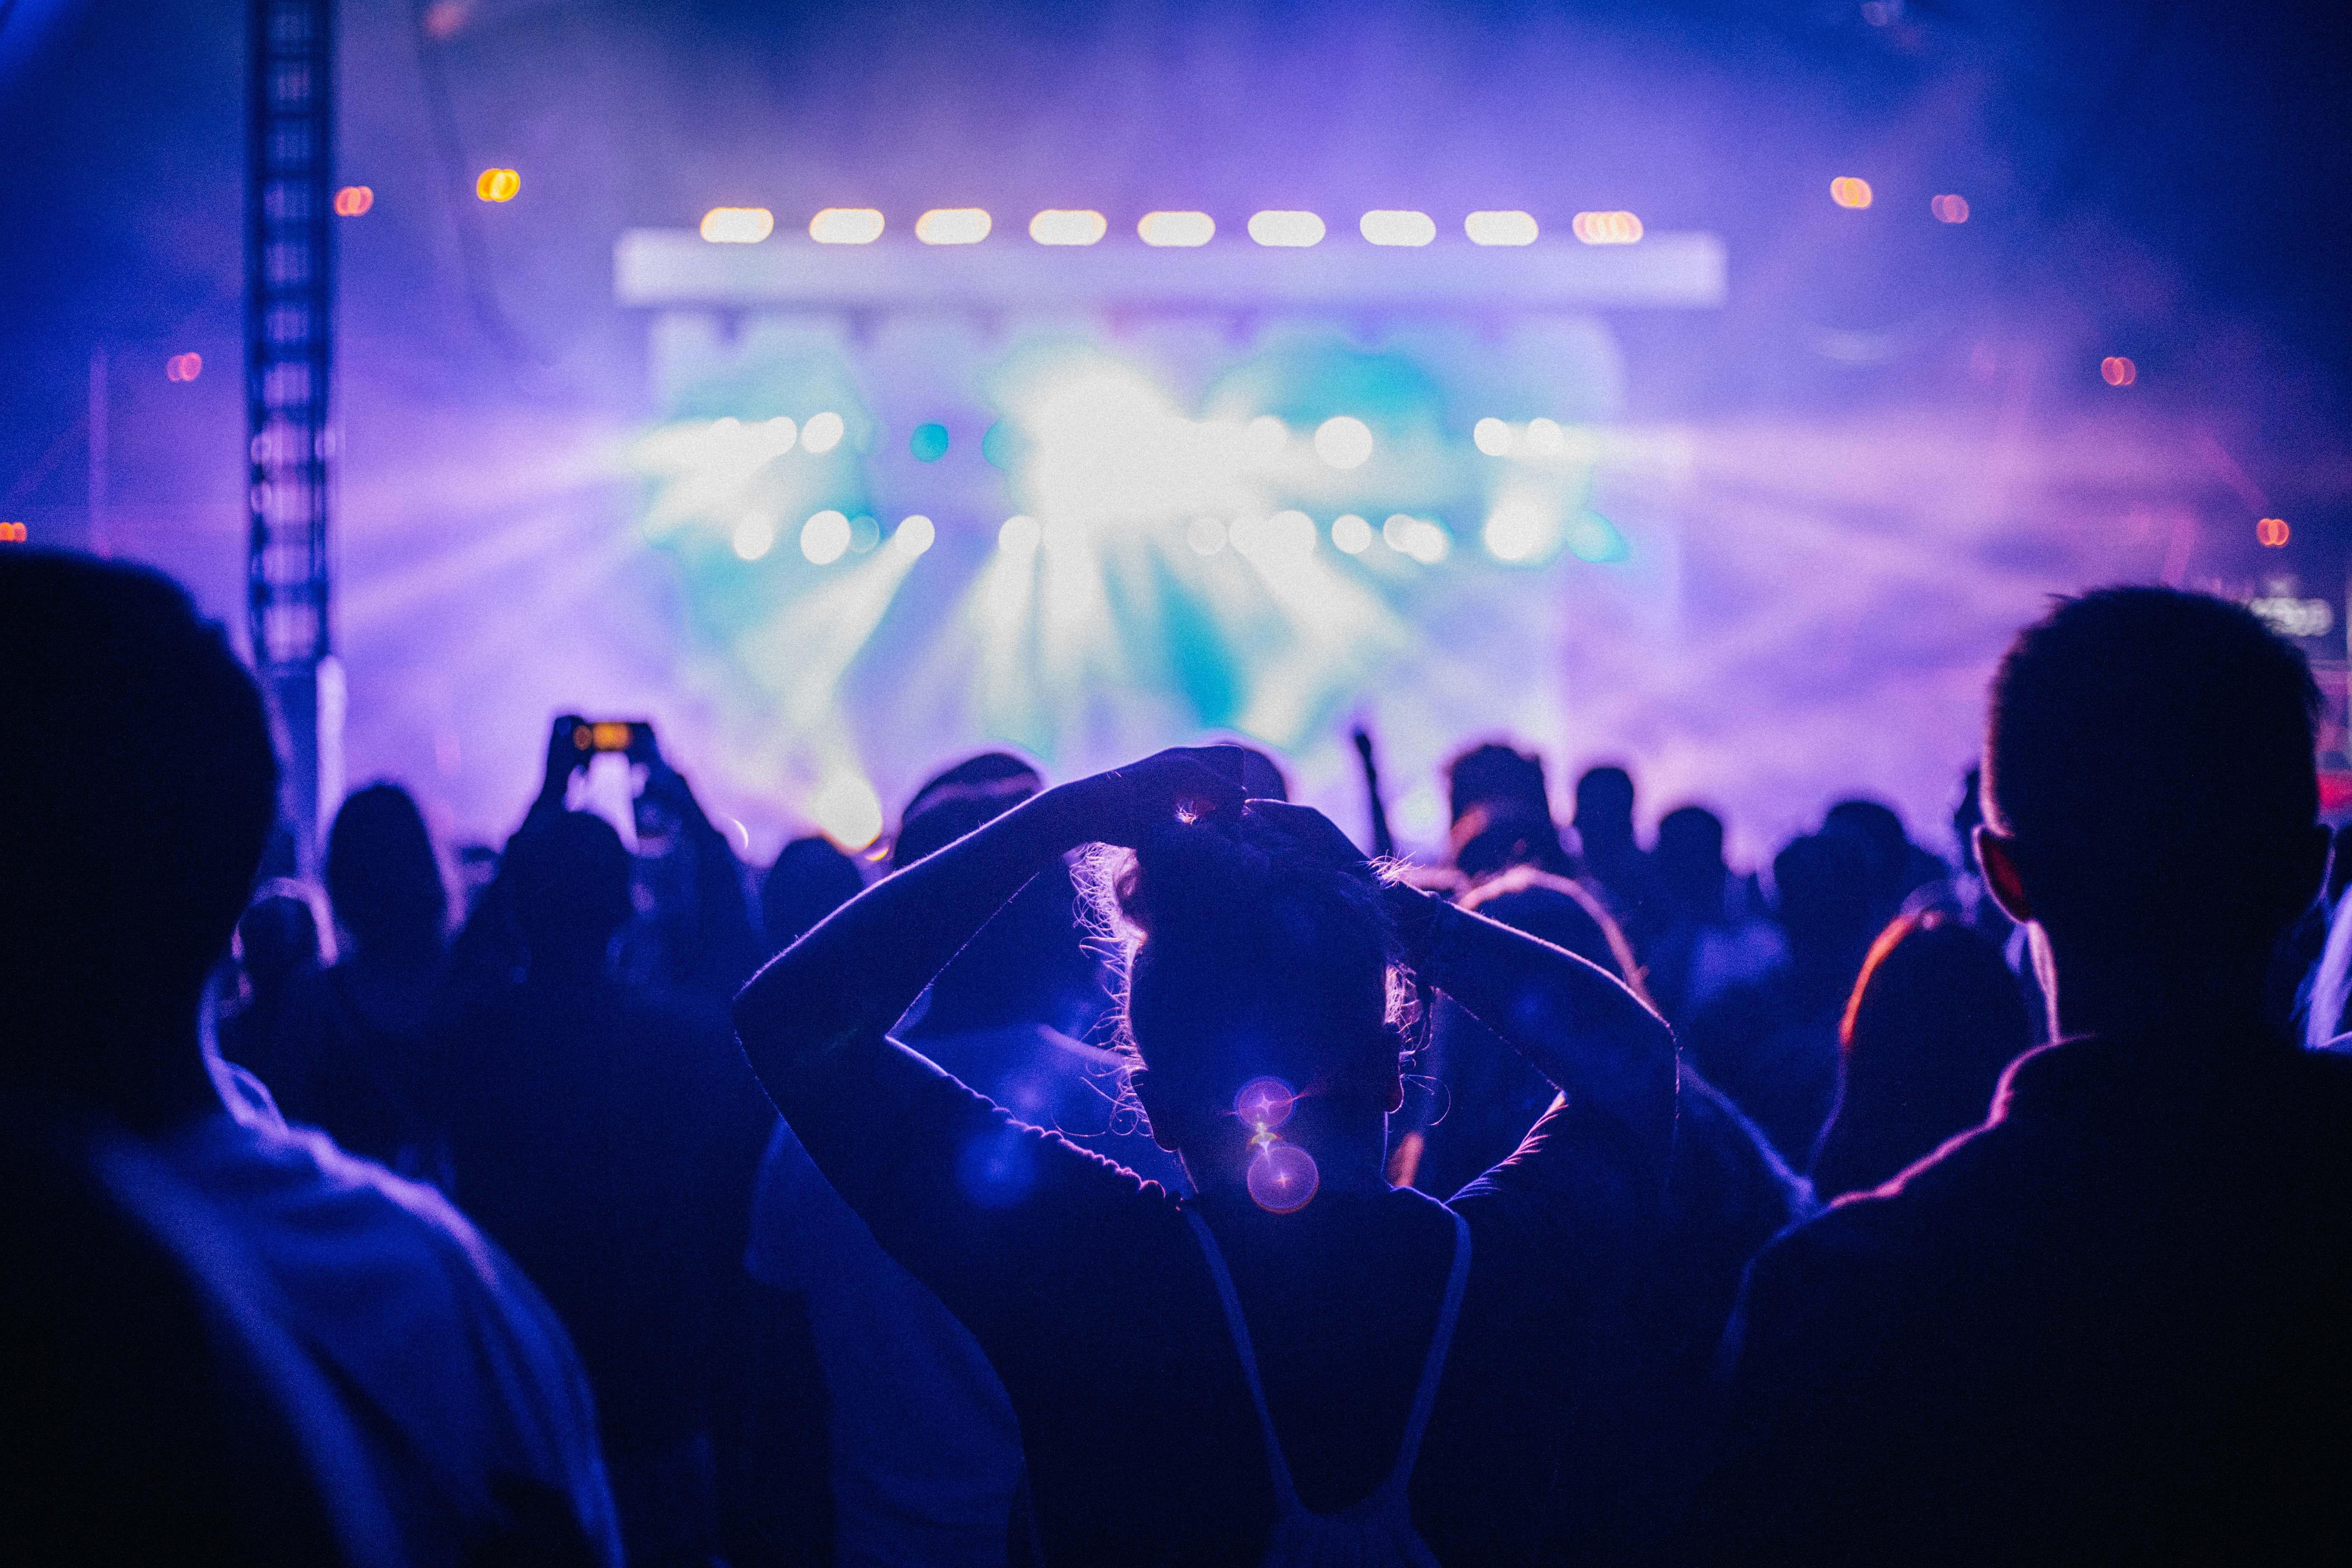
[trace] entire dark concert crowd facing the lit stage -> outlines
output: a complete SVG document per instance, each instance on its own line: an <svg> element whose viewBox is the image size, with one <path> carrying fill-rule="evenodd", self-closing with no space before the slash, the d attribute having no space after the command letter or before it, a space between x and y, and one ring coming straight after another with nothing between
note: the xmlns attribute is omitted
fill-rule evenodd
<svg viewBox="0 0 2352 1568"><path fill-rule="evenodd" d="M2352 1549L2352 900L2234 604L2025 628L1955 860L1486 743L1397 863L1204 745L755 875L562 717L482 875L376 783L318 889L183 590L0 625L26 1561Z"/></svg>

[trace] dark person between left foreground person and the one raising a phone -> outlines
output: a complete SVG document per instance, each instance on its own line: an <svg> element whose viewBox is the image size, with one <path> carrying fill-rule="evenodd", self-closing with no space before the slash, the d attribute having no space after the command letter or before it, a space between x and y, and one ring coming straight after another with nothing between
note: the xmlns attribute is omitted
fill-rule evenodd
<svg viewBox="0 0 2352 1568"><path fill-rule="evenodd" d="M341 952L289 990L270 1065L256 1072L289 1121L447 1187L435 1009L449 964L449 886L407 790L367 785L334 813L327 898Z"/></svg>

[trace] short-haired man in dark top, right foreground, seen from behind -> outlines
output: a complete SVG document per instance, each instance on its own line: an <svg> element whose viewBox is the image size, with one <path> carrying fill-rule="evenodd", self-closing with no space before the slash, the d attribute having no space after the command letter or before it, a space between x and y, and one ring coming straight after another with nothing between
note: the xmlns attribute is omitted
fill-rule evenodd
<svg viewBox="0 0 2352 1568"><path fill-rule="evenodd" d="M1978 853L2060 1044L1757 1260L1712 1556L2343 1561L2352 1063L2263 1016L2326 863L2303 656L2065 599L1992 684Z"/></svg>

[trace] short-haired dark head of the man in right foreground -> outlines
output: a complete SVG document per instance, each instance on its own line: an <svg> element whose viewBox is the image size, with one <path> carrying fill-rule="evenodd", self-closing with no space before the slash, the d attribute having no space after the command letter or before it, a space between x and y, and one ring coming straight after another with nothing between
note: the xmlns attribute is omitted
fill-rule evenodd
<svg viewBox="0 0 2352 1568"><path fill-rule="evenodd" d="M1994 896L2096 961L2263 961L2326 865L2317 715L2303 654L2239 604L2060 599L1992 679Z"/></svg>

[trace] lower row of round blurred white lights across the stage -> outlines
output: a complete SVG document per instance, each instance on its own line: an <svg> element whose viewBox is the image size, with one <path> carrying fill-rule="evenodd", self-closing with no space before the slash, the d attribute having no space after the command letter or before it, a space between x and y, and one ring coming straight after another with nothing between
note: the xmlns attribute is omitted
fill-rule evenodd
<svg viewBox="0 0 2352 1568"><path fill-rule="evenodd" d="M1378 541L1406 559L1435 567L1454 552L1454 536L1444 524L1411 512L1392 512L1378 529L1357 512L1341 512L1331 520L1329 534L1331 548L1341 555L1364 555ZM764 559L776 548L776 520L753 512L734 529L734 552L746 562ZM1016 512L997 529L997 550L1009 557L1035 555L1044 536L1042 522ZM1566 529L1555 529L1545 512L1510 503L1486 515L1482 541L1486 555L1510 564L1531 562L1559 543L1585 562L1621 559L1625 552L1623 536L1597 512L1583 512ZM934 543L938 543L938 527L917 512L898 522L887 548L913 559ZM1279 564L1312 555L1322 543L1322 529L1298 510L1282 510L1272 517L1237 517L1235 522L1195 517L1185 527L1185 543L1195 555L1218 555L1230 548L1244 559ZM800 555L814 567L830 567L844 555L870 555L877 545L882 545L882 527L866 515L851 517L828 508L800 524Z"/></svg>

